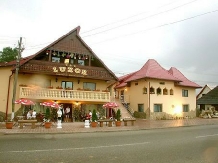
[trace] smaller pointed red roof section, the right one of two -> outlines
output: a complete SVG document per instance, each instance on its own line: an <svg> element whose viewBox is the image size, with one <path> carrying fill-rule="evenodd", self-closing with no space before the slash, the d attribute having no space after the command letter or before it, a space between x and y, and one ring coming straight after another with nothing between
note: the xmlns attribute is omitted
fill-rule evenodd
<svg viewBox="0 0 218 163"><path fill-rule="evenodd" d="M179 86L186 86L186 87L195 87L195 88L202 88L200 85L188 80L179 70L175 67L171 67L169 73L172 74L177 79L181 80L182 82L177 83Z"/></svg>

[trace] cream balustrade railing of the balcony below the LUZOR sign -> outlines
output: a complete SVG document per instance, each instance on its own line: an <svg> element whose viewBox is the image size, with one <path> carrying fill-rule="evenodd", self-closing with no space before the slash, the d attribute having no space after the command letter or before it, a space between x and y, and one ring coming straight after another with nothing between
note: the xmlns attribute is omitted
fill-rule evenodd
<svg viewBox="0 0 218 163"><path fill-rule="evenodd" d="M20 87L20 98L109 102L110 92Z"/></svg>

